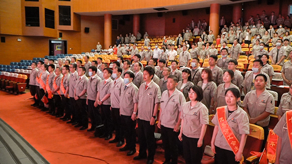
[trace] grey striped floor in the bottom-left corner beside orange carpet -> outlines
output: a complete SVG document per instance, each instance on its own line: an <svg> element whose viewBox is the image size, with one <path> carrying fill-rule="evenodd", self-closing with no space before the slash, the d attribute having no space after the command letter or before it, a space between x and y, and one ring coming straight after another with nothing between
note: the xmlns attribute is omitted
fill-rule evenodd
<svg viewBox="0 0 292 164"><path fill-rule="evenodd" d="M0 119L0 164L50 164L17 131Z"/></svg>

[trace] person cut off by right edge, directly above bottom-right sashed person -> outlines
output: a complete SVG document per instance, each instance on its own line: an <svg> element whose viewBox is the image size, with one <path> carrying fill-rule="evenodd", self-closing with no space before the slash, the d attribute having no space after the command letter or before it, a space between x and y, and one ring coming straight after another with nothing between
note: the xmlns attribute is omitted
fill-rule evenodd
<svg viewBox="0 0 292 164"><path fill-rule="evenodd" d="M277 110L278 119L280 120L286 111L292 110L292 85L289 86L289 92L284 93L281 97L281 102Z"/></svg>

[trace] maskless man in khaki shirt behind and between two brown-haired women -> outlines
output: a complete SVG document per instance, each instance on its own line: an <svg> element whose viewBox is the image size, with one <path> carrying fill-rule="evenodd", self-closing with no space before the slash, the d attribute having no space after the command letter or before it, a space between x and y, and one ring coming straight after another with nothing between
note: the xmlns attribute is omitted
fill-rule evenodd
<svg viewBox="0 0 292 164"><path fill-rule="evenodd" d="M210 66L207 68L211 69L212 75L213 75L213 81L217 86L219 86L219 84L222 83L223 71L220 67L216 65L217 59L218 59L217 55L211 55L209 58Z"/></svg>

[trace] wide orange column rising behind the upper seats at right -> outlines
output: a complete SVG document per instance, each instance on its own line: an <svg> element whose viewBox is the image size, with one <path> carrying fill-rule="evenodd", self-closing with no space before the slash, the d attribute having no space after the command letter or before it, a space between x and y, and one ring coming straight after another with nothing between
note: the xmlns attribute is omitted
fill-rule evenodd
<svg viewBox="0 0 292 164"><path fill-rule="evenodd" d="M220 4L213 3L210 6L210 30L213 31L215 39L219 34L219 14L220 14Z"/></svg>

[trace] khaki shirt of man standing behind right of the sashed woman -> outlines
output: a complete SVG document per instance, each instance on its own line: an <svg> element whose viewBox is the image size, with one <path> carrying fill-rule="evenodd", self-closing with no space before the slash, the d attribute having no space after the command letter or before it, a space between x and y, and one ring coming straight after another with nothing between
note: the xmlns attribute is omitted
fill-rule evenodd
<svg viewBox="0 0 292 164"><path fill-rule="evenodd" d="M265 90L259 97L256 96L256 91L248 92L243 100L242 107L248 109L252 118L256 118L264 111L274 114L275 100L274 96ZM270 115L263 120L257 121L256 125L260 127L267 127L270 122Z"/></svg>

